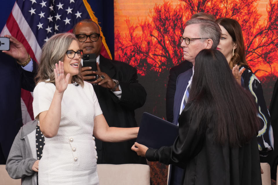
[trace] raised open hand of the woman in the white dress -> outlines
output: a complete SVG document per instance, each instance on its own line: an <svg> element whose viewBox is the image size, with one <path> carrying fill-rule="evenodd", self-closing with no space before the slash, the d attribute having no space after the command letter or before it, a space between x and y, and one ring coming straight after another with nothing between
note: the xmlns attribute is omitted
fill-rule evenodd
<svg viewBox="0 0 278 185"><path fill-rule="evenodd" d="M61 93L67 89L67 85L69 84L70 74L68 73L65 77L64 62L59 61L59 64L55 64L55 67L56 67L56 69L54 69L55 86L57 92Z"/></svg>

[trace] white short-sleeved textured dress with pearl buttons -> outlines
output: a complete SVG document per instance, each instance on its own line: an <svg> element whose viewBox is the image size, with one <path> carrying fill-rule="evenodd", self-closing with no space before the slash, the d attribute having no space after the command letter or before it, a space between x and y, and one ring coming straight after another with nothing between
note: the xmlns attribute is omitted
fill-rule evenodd
<svg viewBox="0 0 278 185"><path fill-rule="evenodd" d="M54 91L52 83L40 82L35 87L33 110L36 120L39 113L49 109ZM92 134L94 118L102 111L92 85L84 82L82 88L69 84L61 105L58 134L45 138L39 162L39 184L99 184Z"/></svg>

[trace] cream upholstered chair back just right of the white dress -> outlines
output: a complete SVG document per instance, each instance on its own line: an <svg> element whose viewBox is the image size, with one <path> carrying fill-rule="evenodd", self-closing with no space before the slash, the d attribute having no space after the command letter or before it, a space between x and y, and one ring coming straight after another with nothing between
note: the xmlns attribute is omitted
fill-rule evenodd
<svg viewBox="0 0 278 185"><path fill-rule="evenodd" d="M146 164L98 164L100 185L150 185L150 167Z"/></svg>

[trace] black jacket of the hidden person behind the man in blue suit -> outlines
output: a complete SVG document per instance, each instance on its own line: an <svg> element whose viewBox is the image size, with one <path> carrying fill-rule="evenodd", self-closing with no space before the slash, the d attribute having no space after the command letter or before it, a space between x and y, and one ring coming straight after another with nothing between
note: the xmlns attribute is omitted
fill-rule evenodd
<svg viewBox="0 0 278 185"><path fill-rule="evenodd" d="M173 122L173 106L174 106L174 96L176 91L177 77L181 73L191 69L193 64L187 60L184 60L177 66L170 69L169 81L167 84L166 91L166 118L167 121Z"/></svg>

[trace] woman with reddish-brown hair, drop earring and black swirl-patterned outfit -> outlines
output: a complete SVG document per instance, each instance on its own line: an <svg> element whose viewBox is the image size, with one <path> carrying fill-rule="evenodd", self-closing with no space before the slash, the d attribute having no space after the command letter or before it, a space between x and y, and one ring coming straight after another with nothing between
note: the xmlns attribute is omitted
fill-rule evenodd
<svg viewBox="0 0 278 185"><path fill-rule="evenodd" d="M217 49L226 57L237 82L249 90L255 97L258 117L260 119L257 136L258 147L260 155L266 156L269 151L273 150L273 132L270 124L270 114L266 107L261 83L245 59L242 29L239 23L231 18L219 18L216 22L222 30Z"/></svg>

